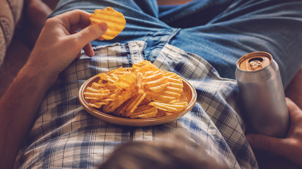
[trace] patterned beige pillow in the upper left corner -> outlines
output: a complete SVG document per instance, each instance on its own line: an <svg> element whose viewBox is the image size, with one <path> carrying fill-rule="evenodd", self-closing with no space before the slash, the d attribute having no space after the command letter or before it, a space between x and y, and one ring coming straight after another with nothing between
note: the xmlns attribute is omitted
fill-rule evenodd
<svg viewBox="0 0 302 169"><path fill-rule="evenodd" d="M0 66L6 50L14 35L16 23L19 21L23 0L0 0Z"/></svg>

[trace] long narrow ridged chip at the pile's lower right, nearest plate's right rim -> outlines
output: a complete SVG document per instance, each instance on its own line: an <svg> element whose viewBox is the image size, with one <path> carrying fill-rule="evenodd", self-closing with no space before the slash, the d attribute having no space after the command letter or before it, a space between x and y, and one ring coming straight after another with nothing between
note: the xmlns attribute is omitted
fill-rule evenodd
<svg viewBox="0 0 302 169"><path fill-rule="evenodd" d="M154 106L160 110L167 111L167 112L174 112L174 111L181 111L185 108L188 103L159 103L159 102L150 102L148 105Z"/></svg>

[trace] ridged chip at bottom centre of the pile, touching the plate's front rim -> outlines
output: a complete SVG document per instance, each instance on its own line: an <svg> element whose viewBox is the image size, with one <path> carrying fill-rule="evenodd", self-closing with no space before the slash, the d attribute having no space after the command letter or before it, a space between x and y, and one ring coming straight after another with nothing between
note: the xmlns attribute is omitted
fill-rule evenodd
<svg viewBox="0 0 302 169"><path fill-rule="evenodd" d="M144 105L137 107L137 109L129 115L130 118L152 118L155 117L157 113L157 108L149 105Z"/></svg>

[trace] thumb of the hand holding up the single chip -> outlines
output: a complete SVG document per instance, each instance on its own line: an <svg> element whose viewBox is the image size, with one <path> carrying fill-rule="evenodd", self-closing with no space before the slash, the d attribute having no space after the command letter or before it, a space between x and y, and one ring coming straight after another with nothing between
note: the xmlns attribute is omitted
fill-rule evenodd
<svg viewBox="0 0 302 169"><path fill-rule="evenodd" d="M77 39L81 39L78 42L85 46L89 42L98 39L107 31L108 25L105 22L95 23L89 25L78 33L72 34Z"/></svg>

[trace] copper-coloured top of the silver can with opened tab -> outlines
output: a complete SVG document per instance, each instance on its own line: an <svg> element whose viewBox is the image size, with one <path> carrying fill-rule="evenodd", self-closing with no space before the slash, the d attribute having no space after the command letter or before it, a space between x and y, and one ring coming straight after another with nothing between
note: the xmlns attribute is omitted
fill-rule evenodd
<svg viewBox="0 0 302 169"><path fill-rule="evenodd" d="M237 68L242 71L257 71L267 67L273 60L267 52L252 52L237 61Z"/></svg>

